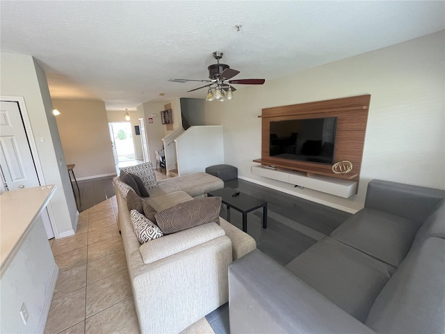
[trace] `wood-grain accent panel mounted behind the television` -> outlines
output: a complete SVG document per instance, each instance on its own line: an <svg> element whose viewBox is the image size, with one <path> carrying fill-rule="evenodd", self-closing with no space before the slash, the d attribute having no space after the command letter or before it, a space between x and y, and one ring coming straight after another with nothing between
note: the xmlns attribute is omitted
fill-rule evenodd
<svg viewBox="0 0 445 334"><path fill-rule="evenodd" d="M360 95L263 109L261 113L261 161L258 160L257 162L261 162L263 165L274 165L281 168L301 170L307 173L339 177L358 182L362 166L370 100L371 95ZM331 165L269 156L269 123L271 121L325 117L337 117L334 162L343 160L352 162L354 166L352 172L346 175L335 174L332 172Z"/></svg>

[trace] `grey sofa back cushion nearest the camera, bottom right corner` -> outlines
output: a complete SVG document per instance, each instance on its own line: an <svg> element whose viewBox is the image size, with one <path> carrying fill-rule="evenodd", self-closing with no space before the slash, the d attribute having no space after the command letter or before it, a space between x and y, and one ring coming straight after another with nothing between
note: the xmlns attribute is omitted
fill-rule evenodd
<svg viewBox="0 0 445 334"><path fill-rule="evenodd" d="M365 324L378 333L444 333L445 240L410 250L375 300Z"/></svg>

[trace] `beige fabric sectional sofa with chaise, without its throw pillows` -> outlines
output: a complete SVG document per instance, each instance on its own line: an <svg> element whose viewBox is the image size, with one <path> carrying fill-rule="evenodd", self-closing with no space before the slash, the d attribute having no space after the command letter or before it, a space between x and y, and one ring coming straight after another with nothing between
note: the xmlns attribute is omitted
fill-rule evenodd
<svg viewBox="0 0 445 334"><path fill-rule="evenodd" d="M149 189L156 211L205 196L223 182L206 173L175 177ZM220 218L140 245L127 202L115 186L118 224L142 333L179 333L226 303L228 266L256 248L252 237Z"/></svg>

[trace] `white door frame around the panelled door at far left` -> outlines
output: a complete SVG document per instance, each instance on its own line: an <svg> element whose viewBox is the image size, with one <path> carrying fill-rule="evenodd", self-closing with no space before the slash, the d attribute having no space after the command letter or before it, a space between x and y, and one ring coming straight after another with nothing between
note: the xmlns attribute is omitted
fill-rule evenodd
<svg viewBox="0 0 445 334"><path fill-rule="evenodd" d="M29 120L28 109L26 109L26 103L24 97L0 95L0 100L5 102L17 102L17 104L19 104L19 111L20 114L22 115L24 130L26 133L26 137L28 137L29 149L31 150L31 155L33 156L35 172L37 173L40 185L46 184L47 182L45 182L44 180L43 169L42 165L40 164L40 157L38 154L37 145L35 145L33 129L31 127L31 122ZM56 218L54 216L54 211L51 206L51 201L49 201L47 205L47 212L49 216L49 223L51 223L51 228L53 229L54 237L56 237L57 239L59 237L59 232L57 230L56 224L54 223L56 221Z"/></svg>

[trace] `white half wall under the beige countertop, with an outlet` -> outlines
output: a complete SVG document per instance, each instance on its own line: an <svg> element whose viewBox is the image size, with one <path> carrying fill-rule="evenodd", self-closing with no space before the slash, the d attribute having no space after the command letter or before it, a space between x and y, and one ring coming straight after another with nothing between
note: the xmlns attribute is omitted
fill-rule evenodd
<svg viewBox="0 0 445 334"><path fill-rule="evenodd" d="M40 216L1 277L1 333L43 333L56 286L58 267ZM26 325L20 316L26 304Z"/></svg>

